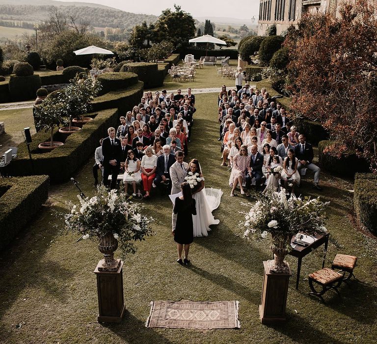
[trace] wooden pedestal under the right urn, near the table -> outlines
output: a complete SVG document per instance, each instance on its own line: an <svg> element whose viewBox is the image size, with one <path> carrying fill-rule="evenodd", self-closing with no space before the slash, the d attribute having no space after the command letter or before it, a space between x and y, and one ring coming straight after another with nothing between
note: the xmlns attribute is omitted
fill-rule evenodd
<svg viewBox="0 0 377 344"><path fill-rule="evenodd" d="M259 305L259 316L262 324L285 321L285 307L287 305L289 278L287 274L269 272L269 262L264 261L265 275L263 278L262 300Z"/></svg>

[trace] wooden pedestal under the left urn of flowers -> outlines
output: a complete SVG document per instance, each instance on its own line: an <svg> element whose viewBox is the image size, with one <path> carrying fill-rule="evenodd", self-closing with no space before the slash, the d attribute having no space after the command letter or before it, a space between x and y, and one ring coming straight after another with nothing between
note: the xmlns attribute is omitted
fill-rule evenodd
<svg viewBox="0 0 377 344"><path fill-rule="evenodd" d="M119 260L119 259L118 259ZM124 315L123 298L123 261L120 261L117 271L98 271L104 259L97 264L94 273L97 275L98 321L121 322Z"/></svg>

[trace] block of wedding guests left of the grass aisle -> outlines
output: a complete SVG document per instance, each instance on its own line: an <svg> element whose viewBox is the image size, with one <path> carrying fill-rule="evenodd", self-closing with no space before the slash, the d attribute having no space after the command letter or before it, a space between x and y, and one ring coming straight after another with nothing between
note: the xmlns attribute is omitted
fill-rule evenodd
<svg viewBox="0 0 377 344"><path fill-rule="evenodd" d="M155 93L155 115L146 114L146 108L142 103L151 92L145 93L142 102L135 106L132 112L129 111L126 116L120 117L117 130L108 129L108 138L104 139L106 141L100 141L101 145L95 152L94 186L98 185L99 169L103 171L105 185L108 184L108 176L111 174L110 188L116 187L118 174L123 173L125 191L128 191L128 184L132 184L133 196L136 194L136 184L140 181L143 184L145 198L150 197L152 185L160 186L161 182L165 184L166 178L162 177L163 173L159 174L157 168L158 158L167 150L173 157L178 151L188 151L193 113L196 111L195 97L191 94L191 89L188 88L188 94L185 96L181 92L178 89L176 95L169 95L169 107L165 108L166 112L163 115L159 106L164 105L163 96L167 98L166 91L162 91L162 97L158 97L159 92ZM108 145L108 142L111 144ZM108 156L115 155L116 158L107 159L104 151L108 152ZM154 180L156 184L153 184Z"/></svg>

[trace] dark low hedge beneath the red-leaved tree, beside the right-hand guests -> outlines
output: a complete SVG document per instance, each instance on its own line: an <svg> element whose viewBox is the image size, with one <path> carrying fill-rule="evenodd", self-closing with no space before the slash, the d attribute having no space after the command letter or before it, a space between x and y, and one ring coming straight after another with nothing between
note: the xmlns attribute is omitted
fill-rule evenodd
<svg viewBox="0 0 377 344"><path fill-rule="evenodd" d="M342 155L340 159L323 153L323 150L333 143L334 141L321 141L318 143L319 161L325 170L349 177L353 177L356 172L369 172L368 163L354 153Z"/></svg>

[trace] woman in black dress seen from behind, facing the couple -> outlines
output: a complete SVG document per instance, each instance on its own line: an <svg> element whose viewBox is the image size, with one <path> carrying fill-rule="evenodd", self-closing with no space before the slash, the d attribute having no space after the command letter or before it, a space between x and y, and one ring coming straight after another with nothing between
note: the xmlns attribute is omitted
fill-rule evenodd
<svg viewBox="0 0 377 344"><path fill-rule="evenodd" d="M188 265L188 250L194 239L192 215L196 215L195 200L192 199L191 188L187 182L181 184L182 196L177 197L173 209L174 241L178 244L178 260L181 265ZM185 246L185 259L182 261L182 251Z"/></svg>

